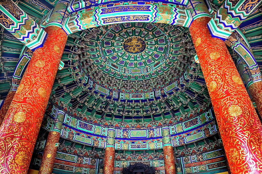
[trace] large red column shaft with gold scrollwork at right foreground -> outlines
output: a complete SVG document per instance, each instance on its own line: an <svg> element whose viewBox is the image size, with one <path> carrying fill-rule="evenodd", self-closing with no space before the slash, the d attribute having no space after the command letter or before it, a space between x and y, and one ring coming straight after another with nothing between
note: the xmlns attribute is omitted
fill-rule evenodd
<svg viewBox="0 0 262 174"><path fill-rule="evenodd" d="M207 28L209 21L209 17L200 17L192 22L189 30L231 173L262 173L261 122L224 41L211 37ZM210 59L208 55L213 58ZM217 83L217 88L213 81Z"/></svg>

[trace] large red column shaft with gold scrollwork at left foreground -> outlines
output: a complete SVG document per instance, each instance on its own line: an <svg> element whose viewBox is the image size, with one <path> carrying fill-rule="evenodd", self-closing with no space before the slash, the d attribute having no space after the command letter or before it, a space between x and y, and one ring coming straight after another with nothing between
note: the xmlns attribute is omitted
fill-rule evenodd
<svg viewBox="0 0 262 174"><path fill-rule="evenodd" d="M59 61L61 59L66 33L59 27L48 26L45 44L33 52L21 83L15 93L6 117L0 127L0 168L5 174L26 174L36 138L40 129L49 95L54 83ZM56 53L55 46L60 52ZM38 67L36 62L44 61L45 66ZM46 90L45 97L41 97L38 89ZM23 112L25 122L14 122L13 116ZM27 158L21 154L21 149Z"/></svg>

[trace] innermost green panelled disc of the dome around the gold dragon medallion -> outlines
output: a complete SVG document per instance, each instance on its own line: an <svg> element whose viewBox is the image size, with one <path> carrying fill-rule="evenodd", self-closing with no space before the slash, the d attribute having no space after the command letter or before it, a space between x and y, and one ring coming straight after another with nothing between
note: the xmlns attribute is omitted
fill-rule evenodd
<svg viewBox="0 0 262 174"><path fill-rule="evenodd" d="M106 32L102 33L102 30ZM101 30L95 30L95 32L102 33L102 37L100 39L98 36L88 35L88 37L91 37L89 43L86 44L89 47L87 53L91 55L90 59L98 69L110 77L118 73L116 79L132 81L130 87L135 81L149 80L162 75L177 61L175 56L179 55L180 46L177 42L174 42L179 30L173 30L169 35L166 35L165 31L153 24L124 23L114 25L111 28L101 27ZM135 39L134 43L140 41L141 44L129 46L132 44L132 39ZM139 47L141 47L141 50ZM86 74L97 81L97 78L92 77L88 69L84 70ZM101 85L105 86L106 84ZM113 88L113 90L115 88L114 86L106 86L109 89ZM123 86L121 90L130 93L138 90L130 87L125 88ZM140 91L147 92L145 90ZM141 97L130 94L129 98Z"/></svg>

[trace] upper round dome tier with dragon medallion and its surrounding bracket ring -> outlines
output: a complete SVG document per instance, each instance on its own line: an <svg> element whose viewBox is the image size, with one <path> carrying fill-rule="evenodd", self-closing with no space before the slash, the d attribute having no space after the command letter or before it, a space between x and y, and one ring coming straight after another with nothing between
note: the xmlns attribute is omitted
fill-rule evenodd
<svg viewBox="0 0 262 174"><path fill-rule="evenodd" d="M90 67L84 71L93 81L112 90L140 93L162 88L178 79L189 61L181 54L185 51L180 44L185 34L181 28L138 22L94 30L99 34L90 33L87 37L88 58L109 79L114 78L114 83L99 80L99 75L90 73ZM164 79L159 81L161 77Z"/></svg>

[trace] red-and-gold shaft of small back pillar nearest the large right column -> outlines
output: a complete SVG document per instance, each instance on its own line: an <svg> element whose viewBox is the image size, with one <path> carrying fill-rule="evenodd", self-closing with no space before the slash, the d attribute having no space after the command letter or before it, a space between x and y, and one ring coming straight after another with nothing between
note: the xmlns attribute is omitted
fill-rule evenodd
<svg viewBox="0 0 262 174"><path fill-rule="evenodd" d="M164 146L163 153L164 153L165 174L176 174L173 147Z"/></svg>

